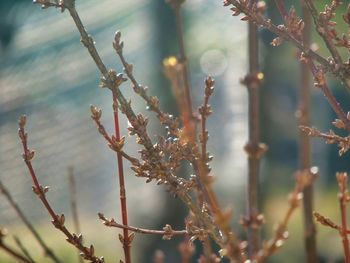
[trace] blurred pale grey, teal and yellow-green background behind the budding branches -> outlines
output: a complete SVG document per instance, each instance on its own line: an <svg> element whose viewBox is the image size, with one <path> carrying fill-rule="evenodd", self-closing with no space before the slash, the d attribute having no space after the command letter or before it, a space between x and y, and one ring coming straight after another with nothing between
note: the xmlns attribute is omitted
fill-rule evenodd
<svg viewBox="0 0 350 263"><path fill-rule="evenodd" d="M325 2L319 1L320 5ZM163 109L177 114L170 83L162 69L162 60L178 53L173 11L164 0L80 0L76 4L105 64L122 70L112 48L114 32L120 30L125 55L134 64L138 81L160 98ZM276 10L271 8L269 12L278 22ZM239 79L247 70L246 24L232 18L221 1L186 1L183 18L196 107L202 102L205 77L211 75L216 80L211 101L214 113L208 123L215 187L222 206L234 209L232 224L241 229L237 222L245 211L247 165L243 146L248 129L247 93ZM266 31L260 35L261 68L265 74L261 89L262 141L269 145L262 161L260 195L267 221L263 234L269 237L287 209L287 193L293 188L293 173L298 167L295 111L299 64L291 46L272 48L269 43L274 36ZM122 250L118 231L107 229L97 218L97 212L117 221L121 218L116 160L98 134L89 110L90 104L101 107L103 123L111 131L111 96L107 90L98 88L100 75L79 39L68 13L61 14L54 8L41 10L29 0L0 1L0 180L58 256L64 262L76 262L76 251L53 229L31 191L17 135L17 119L26 114L30 147L36 150L33 164L41 183L50 186L51 204L66 215L68 226L72 226L67 169L73 167L85 242L93 243L97 254L104 255L107 262L119 262ZM314 39L317 41L316 35ZM320 48L324 52L324 47ZM347 109L348 95L344 89L332 82L332 90ZM135 97L129 83L124 85L123 92L137 111L145 111L145 104ZM313 126L327 131L334 114L317 90L312 91L312 103ZM146 114L155 120L152 114ZM164 130L153 123L151 134L155 138ZM126 134L125 118L122 126ZM133 138L127 141L127 151L137 151ZM346 155L339 158L335 146L320 140L314 139L312 144L313 164L320 168L315 209L337 220L335 172L347 171L349 158ZM170 197L162 187L146 185L128 168L126 174L130 225L160 229L170 223L175 229L183 228L187 211L179 200ZM290 240L270 262L303 262L302 221L297 212ZM38 262L49 262L3 196L0 226L8 229L6 242L13 244L11 235L19 235ZM244 238L244 232L237 231ZM336 262L342 255L338 234L322 227L318 227L318 232L320 255L325 262ZM137 235L133 247L135 262L152 262L157 249L164 251L166 262L179 262L180 241L165 242L158 236ZM14 261L0 250L0 262Z"/></svg>

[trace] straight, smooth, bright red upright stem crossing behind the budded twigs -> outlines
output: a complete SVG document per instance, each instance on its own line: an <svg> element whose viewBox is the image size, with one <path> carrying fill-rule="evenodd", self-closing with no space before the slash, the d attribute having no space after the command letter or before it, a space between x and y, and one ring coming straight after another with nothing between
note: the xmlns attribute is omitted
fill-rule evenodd
<svg viewBox="0 0 350 263"><path fill-rule="evenodd" d="M120 140L120 127L119 127L119 117L118 117L118 100L117 94L113 90L113 110L114 110L114 130L115 130L115 138L117 141ZM122 222L123 225L128 225L128 212L126 205L126 190L125 190L125 182L124 182L124 169L123 169L123 156L120 152L117 152L117 162L118 162L118 177L119 177L119 196L120 196L120 205L122 212ZM129 239L129 231L127 228L123 228L123 249L125 262L131 262L131 242Z"/></svg>

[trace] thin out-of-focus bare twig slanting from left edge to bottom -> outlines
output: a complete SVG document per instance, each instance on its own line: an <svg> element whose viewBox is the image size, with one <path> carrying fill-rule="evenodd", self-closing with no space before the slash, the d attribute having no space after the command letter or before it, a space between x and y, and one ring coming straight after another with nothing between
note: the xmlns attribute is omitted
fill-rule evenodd
<svg viewBox="0 0 350 263"><path fill-rule="evenodd" d="M57 258L55 253L52 251L51 248L47 246L47 244L44 242L41 235L38 233L38 231L34 228L32 223L28 220L28 218L24 215L21 208L17 205L15 200L12 198L12 195L10 191L7 190L5 185L0 180L0 192L3 193L3 195L6 197L12 208L16 211L19 218L23 221L23 223L26 225L26 227L29 229L29 231L33 234L34 238L38 241L41 248L44 250L45 255L47 255L53 262L55 263L61 263L61 261Z"/></svg>

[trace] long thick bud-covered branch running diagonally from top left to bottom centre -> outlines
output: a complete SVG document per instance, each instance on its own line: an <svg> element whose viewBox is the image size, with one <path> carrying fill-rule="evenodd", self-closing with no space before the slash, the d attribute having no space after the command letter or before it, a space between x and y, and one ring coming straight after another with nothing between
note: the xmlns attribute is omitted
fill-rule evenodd
<svg viewBox="0 0 350 263"><path fill-rule="evenodd" d="M192 199L191 195L188 193L187 186L183 186L183 179L178 178L173 174L172 170L168 169L168 166L164 165L164 159L162 158L162 152L159 151L159 148L157 145L153 145L152 140L150 139L146 125L147 120L142 115L136 115L133 111L133 108L131 107L131 102L127 101L122 94L122 92L119 89L119 86L124 81L123 77L113 71L113 70L107 70L106 66L103 64L101 57L99 56L96 47L94 45L94 41L89 36L78 16L78 13L74 6L73 0L65 0L64 1L65 8L68 9L69 13L71 14L79 32L81 35L81 41L84 44L84 46L87 48L89 54L95 61L95 64L97 65L99 71L102 73L103 77L101 79L101 87L107 87L109 88L114 94L114 96L118 100L118 107L121 110L123 114L126 115L127 119L129 120L131 127L129 128L129 131L131 134L137 135L137 142L141 145L143 145L144 150L142 150L142 153L144 154L144 157L146 158L144 166L142 167L132 167L136 170L140 169L140 173L147 173L150 175L150 179L157 179L159 183L166 184L171 191L176 193L176 195L188 206L191 212L195 214L197 219L203 224L203 226L206 228L208 233L210 233L213 240L220 245L222 248L226 248L228 246L228 243L231 242L231 236L233 236L232 232L230 232L229 236L223 237L221 234L221 230L217 228L217 226L214 224L212 217L208 214L207 211L203 211L201 207L199 207ZM122 49L123 48L123 42L120 42L120 39L118 39L118 33L115 36L115 41L113 43L114 47L116 49ZM153 100L152 103L154 105L158 104L158 100ZM152 105L152 106L154 106ZM161 123L164 123L165 121L163 119L168 118L169 116L166 114L162 114L159 116ZM174 124L173 124L174 125ZM171 127L169 128L171 129ZM176 130L176 132L179 132L179 130ZM145 169L145 167L148 167L146 171L142 171L142 169ZM137 173L137 172L136 172ZM227 229L225 229L225 232L227 232ZM227 255L231 259L237 259L241 258L240 253L238 253L240 250L238 248L238 245L236 248L232 251L235 251L235 254L229 254ZM230 251L231 252L231 251ZM237 253L236 253L237 252Z"/></svg>

